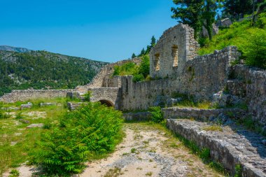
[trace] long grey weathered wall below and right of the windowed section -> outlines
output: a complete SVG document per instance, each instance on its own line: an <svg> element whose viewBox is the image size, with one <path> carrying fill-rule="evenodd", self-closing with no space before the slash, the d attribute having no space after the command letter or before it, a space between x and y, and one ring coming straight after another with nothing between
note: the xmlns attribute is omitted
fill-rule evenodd
<svg viewBox="0 0 266 177"><path fill-rule="evenodd" d="M195 57L186 62L176 78L134 83L132 76L122 78L122 110L141 110L153 106L156 97L174 92L191 94L196 99L211 100L223 90L230 73L230 62L237 59L236 47L224 48L213 54Z"/></svg>

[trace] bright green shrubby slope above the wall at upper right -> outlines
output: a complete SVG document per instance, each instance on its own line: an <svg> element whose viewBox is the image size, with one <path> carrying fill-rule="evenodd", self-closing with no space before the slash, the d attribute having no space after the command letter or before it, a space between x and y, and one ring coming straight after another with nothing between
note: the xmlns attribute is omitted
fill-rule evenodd
<svg viewBox="0 0 266 177"><path fill-rule="evenodd" d="M238 47L245 64L266 69L266 13L258 15L255 24L251 20L235 22L229 28L221 29L211 41L206 39L199 50L205 55L229 45Z"/></svg>

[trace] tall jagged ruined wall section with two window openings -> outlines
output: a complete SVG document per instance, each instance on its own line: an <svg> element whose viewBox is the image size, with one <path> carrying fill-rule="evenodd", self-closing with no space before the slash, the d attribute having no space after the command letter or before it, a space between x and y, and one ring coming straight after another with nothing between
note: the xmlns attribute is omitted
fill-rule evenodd
<svg viewBox="0 0 266 177"><path fill-rule="evenodd" d="M197 56L200 45L194 39L194 30L186 24L167 29L150 52L152 78L179 76L186 62Z"/></svg>

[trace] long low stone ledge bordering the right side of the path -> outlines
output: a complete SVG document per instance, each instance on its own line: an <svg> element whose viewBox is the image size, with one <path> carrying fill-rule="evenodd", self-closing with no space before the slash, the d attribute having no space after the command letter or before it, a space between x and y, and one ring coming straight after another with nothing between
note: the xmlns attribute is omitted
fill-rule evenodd
<svg viewBox="0 0 266 177"><path fill-rule="evenodd" d="M201 148L209 148L211 159L221 162L235 174L235 166L241 164L242 176L266 176L265 138L246 130L236 131L221 127L223 131L204 131L207 122L193 120L167 120L167 127L176 134L194 141Z"/></svg>

